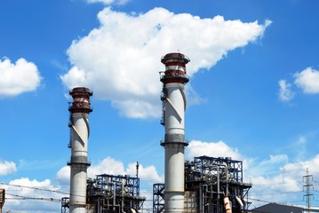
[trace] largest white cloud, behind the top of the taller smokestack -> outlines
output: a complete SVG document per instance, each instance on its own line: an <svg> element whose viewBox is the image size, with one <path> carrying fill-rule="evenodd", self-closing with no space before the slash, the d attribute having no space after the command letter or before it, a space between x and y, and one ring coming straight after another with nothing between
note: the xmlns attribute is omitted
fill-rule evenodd
<svg viewBox="0 0 319 213"><path fill-rule="evenodd" d="M100 28L73 41L68 48L72 67L60 78L69 88L86 86L98 99L108 99L120 114L132 118L159 117L162 84L160 59L171 51L185 53L187 74L211 68L227 51L255 42L271 23L201 19L155 8L142 14L106 8ZM138 30L137 30L138 29Z"/></svg>

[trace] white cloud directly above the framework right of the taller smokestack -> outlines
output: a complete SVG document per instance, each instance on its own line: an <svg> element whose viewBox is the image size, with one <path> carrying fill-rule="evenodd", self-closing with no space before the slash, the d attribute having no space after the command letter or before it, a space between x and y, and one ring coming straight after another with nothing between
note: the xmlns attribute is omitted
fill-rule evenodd
<svg viewBox="0 0 319 213"><path fill-rule="evenodd" d="M242 161L243 156L238 150L227 146L223 141L219 142L203 142L192 140L186 148L186 158L192 160L197 156L211 156L211 157L231 157L235 160Z"/></svg>

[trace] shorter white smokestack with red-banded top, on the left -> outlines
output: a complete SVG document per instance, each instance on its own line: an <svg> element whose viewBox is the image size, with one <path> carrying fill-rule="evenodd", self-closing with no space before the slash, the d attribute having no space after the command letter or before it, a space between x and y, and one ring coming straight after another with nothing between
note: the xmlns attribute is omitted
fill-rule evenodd
<svg viewBox="0 0 319 213"><path fill-rule="evenodd" d="M73 98L73 103L68 108L71 129L71 161L68 162L68 166L71 167L69 212L85 213L87 168L90 166L90 162L87 161L87 142L90 134L92 91L85 87L76 87L69 94Z"/></svg>

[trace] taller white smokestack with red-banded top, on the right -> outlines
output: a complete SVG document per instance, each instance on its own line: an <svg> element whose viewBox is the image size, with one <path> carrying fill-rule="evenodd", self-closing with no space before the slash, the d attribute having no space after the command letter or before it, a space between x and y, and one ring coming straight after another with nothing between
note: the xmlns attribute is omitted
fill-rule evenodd
<svg viewBox="0 0 319 213"><path fill-rule="evenodd" d="M185 193L184 150L186 98L184 84L188 82L186 64L189 59L181 53L163 56L165 72L161 75L163 83L163 122L165 139L161 146L165 149L165 212L183 212Z"/></svg>

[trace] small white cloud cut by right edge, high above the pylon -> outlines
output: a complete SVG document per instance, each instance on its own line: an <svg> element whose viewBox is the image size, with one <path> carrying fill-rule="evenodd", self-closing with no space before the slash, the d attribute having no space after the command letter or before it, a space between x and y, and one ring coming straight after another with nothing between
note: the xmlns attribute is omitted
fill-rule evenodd
<svg viewBox="0 0 319 213"><path fill-rule="evenodd" d="M319 93L319 71L312 67L307 67L305 70L293 75L295 84L301 88L304 93L315 94Z"/></svg>

